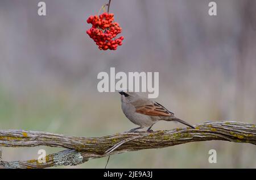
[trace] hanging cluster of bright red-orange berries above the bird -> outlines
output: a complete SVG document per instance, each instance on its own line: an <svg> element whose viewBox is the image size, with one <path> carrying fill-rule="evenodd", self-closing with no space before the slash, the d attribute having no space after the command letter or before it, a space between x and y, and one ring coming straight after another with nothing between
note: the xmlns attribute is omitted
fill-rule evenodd
<svg viewBox="0 0 256 180"><path fill-rule="evenodd" d="M117 22L114 22L114 14L104 12L100 16L89 16L88 24L92 24L92 28L86 33L94 40L100 50L116 50L118 45L122 45L123 36L115 37L122 32L122 28Z"/></svg>

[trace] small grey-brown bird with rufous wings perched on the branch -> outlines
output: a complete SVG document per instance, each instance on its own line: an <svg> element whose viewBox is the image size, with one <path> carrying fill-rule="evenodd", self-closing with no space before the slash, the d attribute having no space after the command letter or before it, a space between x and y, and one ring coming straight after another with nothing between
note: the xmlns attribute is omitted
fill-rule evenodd
<svg viewBox="0 0 256 180"><path fill-rule="evenodd" d="M174 113L167 110L158 102L152 101L146 97L142 97L135 92L118 91L121 94L122 111L132 123L139 125L137 128L131 129L129 132L136 132L138 129L147 127L147 132L153 132L152 126L159 120L175 121L185 124L193 129L193 125L176 118Z"/></svg>

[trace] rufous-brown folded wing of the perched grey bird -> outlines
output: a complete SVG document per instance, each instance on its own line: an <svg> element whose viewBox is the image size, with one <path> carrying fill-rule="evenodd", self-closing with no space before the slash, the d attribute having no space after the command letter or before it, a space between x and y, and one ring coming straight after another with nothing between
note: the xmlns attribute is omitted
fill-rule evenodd
<svg viewBox="0 0 256 180"><path fill-rule="evenodd" d="M144 104L143 106L135 106L136 112L149 116L174 116L174 114L168 111L165 107L157 102Z"/></svg>

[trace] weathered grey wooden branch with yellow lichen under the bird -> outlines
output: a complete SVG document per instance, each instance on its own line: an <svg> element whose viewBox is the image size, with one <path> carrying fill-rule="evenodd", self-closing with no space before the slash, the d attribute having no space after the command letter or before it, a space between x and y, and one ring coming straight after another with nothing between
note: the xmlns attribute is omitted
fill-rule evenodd
<svg viewBox="0 0 256 180"><path fill-rule="evenodd" d="M242 122L205 122L192 128L167 131L123 132L104 137L75 137L48 132L0 130L0 146L32 147L46 145L67 150L46 156L45 163L38 160L2 161L5 168L49 168L61 165L79 165L92 158L133 150L164 148L193 141L223 140L256 145L256 125Z"/></svg>

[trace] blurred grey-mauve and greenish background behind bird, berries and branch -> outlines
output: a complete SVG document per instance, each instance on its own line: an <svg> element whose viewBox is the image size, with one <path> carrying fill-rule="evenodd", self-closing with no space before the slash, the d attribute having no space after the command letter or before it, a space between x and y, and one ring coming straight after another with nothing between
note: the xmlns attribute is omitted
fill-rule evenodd
<svg viewBox="0 0 256 180"><path fill-rule="evenodd" d="M98 93L97 74L159 72L156 99L191 124L256 123L256 1L113 0L125 36L99 51L86 34L105 0L0 1L0 128L98 137L136 127L118 93ZM147 95L147 94L144 94ZM159 122L153 129L182 124ZM3 148L3 160L28 160L60 148ZM208 151L216 149L217 164ZM104 168L107 158L65 168ZM256 168L255 146L208 141L115 154L108 168ZM64 168L64 167L59 167Z"/></svg>

